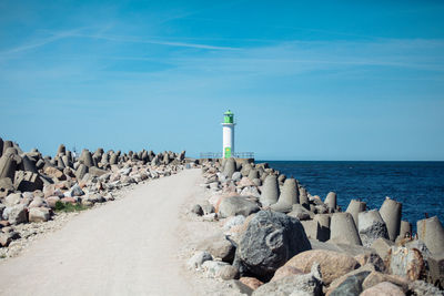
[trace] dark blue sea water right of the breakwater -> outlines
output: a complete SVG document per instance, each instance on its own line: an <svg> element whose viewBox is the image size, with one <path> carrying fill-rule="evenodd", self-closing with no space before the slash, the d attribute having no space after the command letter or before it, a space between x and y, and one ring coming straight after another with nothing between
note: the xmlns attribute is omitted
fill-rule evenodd
<svg viewBox="0 0 444 296"><path fill-rule="evenodd" d="M444 162L266 162L322 200L334 191L343 211L352 198L380 208L390 196L403 204L403 220L414 228L425 213L444 223Z"/></svg>

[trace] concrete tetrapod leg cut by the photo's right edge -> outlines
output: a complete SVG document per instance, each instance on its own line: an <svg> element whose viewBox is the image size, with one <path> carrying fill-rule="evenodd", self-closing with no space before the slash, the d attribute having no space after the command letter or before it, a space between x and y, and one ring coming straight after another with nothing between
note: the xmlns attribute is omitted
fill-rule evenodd
<svg viewBox="0 0 444 296"><path fill-rule="evenodd" d="M417 236L433 254L444 253L444 229L437 216L416 222Z"/></svg>

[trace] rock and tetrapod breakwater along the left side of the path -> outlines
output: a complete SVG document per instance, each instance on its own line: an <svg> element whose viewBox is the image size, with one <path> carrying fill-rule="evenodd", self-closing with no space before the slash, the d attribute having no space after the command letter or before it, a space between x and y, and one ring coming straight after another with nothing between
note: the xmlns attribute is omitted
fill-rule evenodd
<svg viewBox="0 0 444 296"><path fill-rule="evenodd" d="M184 151L98 149L83 150L75 157L62 144L51 157L37 149L23 152L0 137L0 258L16 256L40 234L60 228L77 210L119 198L139 183L175 174L184 166ZM67 208L74 212L64 213Z"/></svg>

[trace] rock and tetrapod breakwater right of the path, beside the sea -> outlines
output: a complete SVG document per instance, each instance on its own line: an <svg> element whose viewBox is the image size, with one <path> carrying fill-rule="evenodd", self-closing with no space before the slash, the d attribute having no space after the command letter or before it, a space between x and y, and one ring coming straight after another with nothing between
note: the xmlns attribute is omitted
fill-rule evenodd
<svg viewBox="0 0 444 296"><path fill-rule="evenodd" d="M248 295L444 295L444 231L437 217L402 221L402 204L380 210L336 194L324 201L295 178L243 160L201 161L208 201L189 215L214 223L191 269Z"/></svg>

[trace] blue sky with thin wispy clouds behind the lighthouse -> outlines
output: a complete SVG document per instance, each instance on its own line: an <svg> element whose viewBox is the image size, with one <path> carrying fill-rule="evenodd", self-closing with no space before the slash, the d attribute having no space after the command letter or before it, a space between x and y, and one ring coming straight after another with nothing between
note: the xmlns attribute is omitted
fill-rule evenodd
<svg viewBox="0 0 444 296"><path fill-rule="evenodd" d="M50 3L47 3L50 2ZM444 160L442 1L3 1L0 136L261 160Z"/></svg>

